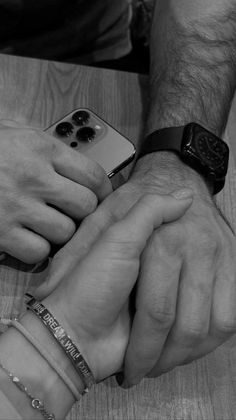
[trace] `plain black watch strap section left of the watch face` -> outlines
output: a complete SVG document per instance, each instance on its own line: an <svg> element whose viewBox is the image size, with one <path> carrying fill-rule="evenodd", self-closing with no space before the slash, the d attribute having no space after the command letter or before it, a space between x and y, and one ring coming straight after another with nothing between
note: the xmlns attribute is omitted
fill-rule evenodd
<svg viewBox="0 0 236 420"><path fill-rule="evenodd" d="M160 150L181 152L184 128L184 126L162 128L149 134L141 147L138 157L141 158L144 155Z"/></svg>

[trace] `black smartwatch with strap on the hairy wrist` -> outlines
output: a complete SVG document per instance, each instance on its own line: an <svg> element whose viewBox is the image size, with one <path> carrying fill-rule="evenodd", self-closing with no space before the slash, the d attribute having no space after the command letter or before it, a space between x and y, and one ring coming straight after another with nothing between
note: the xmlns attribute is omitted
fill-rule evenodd
<svg viewBox="0 0 236 420"><path fill-rule="evenodd" d="M222 190L228 169L229 148L219 137L199 124L168 127L147 136L139 158L149 153L172 150L188 166L213 184L213 194Z"/></svg>

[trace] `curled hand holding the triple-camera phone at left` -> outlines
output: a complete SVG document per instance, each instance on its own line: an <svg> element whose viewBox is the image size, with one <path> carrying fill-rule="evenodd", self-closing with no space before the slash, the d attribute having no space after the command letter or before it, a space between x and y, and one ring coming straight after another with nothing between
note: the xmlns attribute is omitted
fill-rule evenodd
<svg viewBox="0 0 236 420"><path fill-rule="evenodd" d="M97 163L45 133L0 124L0 251L41 261L111 191Z"/></svg>

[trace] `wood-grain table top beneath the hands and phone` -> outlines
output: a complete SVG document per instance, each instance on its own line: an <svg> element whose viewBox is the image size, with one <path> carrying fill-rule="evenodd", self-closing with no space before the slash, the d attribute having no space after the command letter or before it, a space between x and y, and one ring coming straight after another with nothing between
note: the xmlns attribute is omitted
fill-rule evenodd
<svg viewBox="0 0 236 420"><path fill-rule="evenodd" d="M0 56L0 118L46 127L65 113L87 106L132 141L141 135L145 77L116 71ZM236 172L230 159L218 204L236 228ZM8 259L0 266L0 316L22 310L22 290L45 271ZM125 391L114 378L95 387L68 419L233 420L236 419L236 337L191 365Z"/></svg>

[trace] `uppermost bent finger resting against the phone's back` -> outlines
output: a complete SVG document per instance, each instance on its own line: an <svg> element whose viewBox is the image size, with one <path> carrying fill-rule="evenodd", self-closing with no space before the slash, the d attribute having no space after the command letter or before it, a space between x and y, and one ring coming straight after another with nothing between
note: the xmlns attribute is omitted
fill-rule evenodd
<svg viewBox="0 0 236 420"><path fill-rule="evenodd" d="M58 174L93 191L99 201L112 192L111 182L97 162L61 142L53 156L53 166Z"/></svg>

